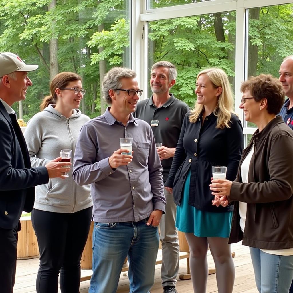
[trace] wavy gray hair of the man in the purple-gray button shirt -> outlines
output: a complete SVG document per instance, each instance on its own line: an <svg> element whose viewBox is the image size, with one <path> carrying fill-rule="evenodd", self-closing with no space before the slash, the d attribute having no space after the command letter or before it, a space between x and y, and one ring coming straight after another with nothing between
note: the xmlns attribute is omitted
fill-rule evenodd
<svg viewBox="0 0 293 293"><path fill-rule="evenodd" d="M124 67L113 67L109 70L103 79L102 91L104 94L104 99L108 104L112 103L111 97L109 95L110 89L115 90L116 88L122 87L122 78L135 78L136 72ZM119 94L119 91L117 91Z"/></svg>

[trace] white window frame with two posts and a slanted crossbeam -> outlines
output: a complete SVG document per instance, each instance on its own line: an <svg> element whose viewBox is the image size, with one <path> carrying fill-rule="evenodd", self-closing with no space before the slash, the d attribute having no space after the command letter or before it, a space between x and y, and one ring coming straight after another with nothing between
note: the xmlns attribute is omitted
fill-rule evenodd
<svg viewBox="0 0 293 293"><path fill-rule="evenodd" d="M148 88L148 52L147 23L161 19L195 16L216 12L236 11L236 59L235 59L235 112L244 125L243 112L238 105L241 101L240 86L247 72L247 27L248 8L282 5L293 0L212 0L193 4L147 9L148 0L132 0L132 68L137 72L140 88L144 90L142 99L147 97ZM144 39L142 39L144 27ZM243 134L252 134L255 128L244 127Z"/></svg>

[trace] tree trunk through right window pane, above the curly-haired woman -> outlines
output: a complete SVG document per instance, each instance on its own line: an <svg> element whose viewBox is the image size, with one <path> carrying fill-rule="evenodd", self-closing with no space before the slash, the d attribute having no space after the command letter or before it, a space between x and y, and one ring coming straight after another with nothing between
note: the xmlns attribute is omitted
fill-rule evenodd
<svg viewBox="0 0 293 293"><path fill-rule="evenodd" d="M249 19L259 19L260 8L249 9ZM248 24L249 25L249 24ZM249 30L249 26L248 26ZM251 44L251 38L248 38L248 64L247 64L247 77L255 76L258 60L258 46Z"/></svg>

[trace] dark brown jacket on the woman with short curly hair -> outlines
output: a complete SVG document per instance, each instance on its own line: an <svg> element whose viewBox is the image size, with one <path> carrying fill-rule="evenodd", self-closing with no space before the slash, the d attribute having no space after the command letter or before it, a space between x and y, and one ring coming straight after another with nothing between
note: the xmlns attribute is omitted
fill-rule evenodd
<svg viewBox="0 0 293 293"><path fill-rule="evenodd" d="M241 165L251 147L248 183L242 183ZM293 131L277 116L243 151L229 200L234 212L229 243L263 249L293 248ZM247 203L244 234L239 201Z"/></svg>

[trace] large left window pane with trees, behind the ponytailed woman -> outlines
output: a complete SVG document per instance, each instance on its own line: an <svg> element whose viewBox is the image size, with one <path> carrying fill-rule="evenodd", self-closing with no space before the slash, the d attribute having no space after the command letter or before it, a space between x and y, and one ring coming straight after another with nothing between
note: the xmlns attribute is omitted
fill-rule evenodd
<svg viewBox="0 0 293 293"><path fill-rule="evenodd" d="M13 7L11 3L6 1L0 8L0 52L15 52L26 63L39 64L38 70L29 73L33 86L21 106L25 122L40 111L42 98L49 94L50 70L54 72L49 41L54 38L57 72L80 74L86 89L80 109L90 117L100 115L106 106L101 99L100 78L111 67L131 65L131 1L57 0L49 12L46 1L20 1ZM19 117L18 103L13 108Z"/></svg>

